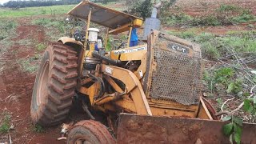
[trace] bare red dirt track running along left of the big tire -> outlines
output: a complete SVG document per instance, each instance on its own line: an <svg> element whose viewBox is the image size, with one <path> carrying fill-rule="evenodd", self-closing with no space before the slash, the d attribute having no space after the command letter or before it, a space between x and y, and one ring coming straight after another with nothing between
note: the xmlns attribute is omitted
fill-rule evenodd
<svg viewBox="0 0 256 144"><path fill-rule="evenodd" d="M0 54L5 61L0 70L0 114L4 111L11 114L11 123L14 130L10 130L14 143L56 143L59 129L46 129L45 134L33 131L30 121L30 101L34 85L35 73L22 71L18 64L20 58L34 56L34 42L45 41L45 32L42 27L30 25L30 19L18 19L17 37L11 38L14 44L7 47L7 52ZM29 41L28 41L29 40ZM23 42L22 42L23 41ZM1 134L0 142L7 142L7 134Z"/></svg>

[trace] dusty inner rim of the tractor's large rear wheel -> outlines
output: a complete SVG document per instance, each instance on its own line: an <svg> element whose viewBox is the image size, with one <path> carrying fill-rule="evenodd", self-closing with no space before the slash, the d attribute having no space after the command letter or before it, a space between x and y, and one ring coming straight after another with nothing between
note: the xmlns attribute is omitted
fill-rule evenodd
<svg viewBox="0 0 256 144"><path fill-rule="evenodd" d="M49 60L43 66L39 74L38 91L37 91L37 105L40 106L47 94L47 82L49 77Z"/></svg>

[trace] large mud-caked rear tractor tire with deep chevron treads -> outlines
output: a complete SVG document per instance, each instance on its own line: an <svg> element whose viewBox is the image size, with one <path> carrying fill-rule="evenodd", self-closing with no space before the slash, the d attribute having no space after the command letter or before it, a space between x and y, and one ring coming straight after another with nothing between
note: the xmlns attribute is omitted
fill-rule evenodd
<svg viewBox="0 0 256 144"><path fill-rule="evenodd" d="M62 42L46 48L34 82L30 115L34 123L53 126L70 111L78 76L77 52Z"/></svg>

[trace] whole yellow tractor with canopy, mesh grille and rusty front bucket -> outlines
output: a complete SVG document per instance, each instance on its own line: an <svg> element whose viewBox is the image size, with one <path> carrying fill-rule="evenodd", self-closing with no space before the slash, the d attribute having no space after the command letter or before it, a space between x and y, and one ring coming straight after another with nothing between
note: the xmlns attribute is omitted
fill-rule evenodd
<svg viewBox="0 0 256 144"><path fill-rule="evenodd" d="M110 34L129 31L129 43L142 18L89 1L68 14L87 21L85 40L80 41L78 34L46 48L34 82L33 122L63 122L76 95L90 120L72 126L67 143L229 142L222 134L225 122L217 120L213 107L202 98L198 45L152 30L145 44L106 52ZM107 28L105 42L90 22ZM102 111L106 123L95 121L92 110ZM243 126L247 127L242 141L256 142L250 138L256 135L255 126Z"/></svg>

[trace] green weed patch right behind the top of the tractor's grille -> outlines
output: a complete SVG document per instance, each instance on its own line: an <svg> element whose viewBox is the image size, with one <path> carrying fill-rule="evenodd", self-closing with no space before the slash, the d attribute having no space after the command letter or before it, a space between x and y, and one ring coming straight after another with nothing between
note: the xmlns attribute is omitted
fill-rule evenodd
<svg viewBox="0 0 256 144"><path fill-rule="evenodd" d="M256 55L255 31L232 32L222 37L210 33L195 34L194 31L167 33L200 44L202 57L211 60L225 57L229 52L228 48L234 49L241 57Z"/></svg>

